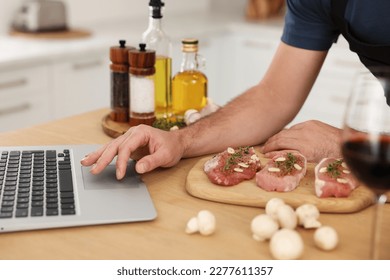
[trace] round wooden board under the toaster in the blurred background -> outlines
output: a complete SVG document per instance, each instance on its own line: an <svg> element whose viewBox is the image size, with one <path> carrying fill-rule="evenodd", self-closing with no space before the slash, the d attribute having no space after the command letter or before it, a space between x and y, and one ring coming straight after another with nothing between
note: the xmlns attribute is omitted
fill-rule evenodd
<svg viewBox="0 0 390 280"><path fill-rule="evenodd" d="M21 32L11 30L11 36L19 36L31 39L80 39L91 36L91 32L82 29L68 29L64 31L53 32Z"/></svg>

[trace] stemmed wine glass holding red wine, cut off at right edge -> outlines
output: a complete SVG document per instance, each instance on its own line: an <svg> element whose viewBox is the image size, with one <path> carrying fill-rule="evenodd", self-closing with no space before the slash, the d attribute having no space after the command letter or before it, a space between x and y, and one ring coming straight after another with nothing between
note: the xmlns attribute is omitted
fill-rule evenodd
<svg viewBox="0 0 390 280"><path fill-rule="evenodd" d="M378 259L381 210L390 190L390 67L357 74L344 117L342 154L375 194L371 258Z"/></svg>

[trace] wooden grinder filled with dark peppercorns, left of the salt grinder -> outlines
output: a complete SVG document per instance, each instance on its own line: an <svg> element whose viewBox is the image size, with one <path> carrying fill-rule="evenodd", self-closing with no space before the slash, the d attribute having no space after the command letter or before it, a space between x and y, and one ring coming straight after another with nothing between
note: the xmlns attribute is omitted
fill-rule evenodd
<svg viewBox="0 0 390 280"><path fill-rule="evenodd" d="M110 117L116 122L129 121L129 50L126 41L120 40L119 46L110 48L111 70L111 113Z"/></svg>

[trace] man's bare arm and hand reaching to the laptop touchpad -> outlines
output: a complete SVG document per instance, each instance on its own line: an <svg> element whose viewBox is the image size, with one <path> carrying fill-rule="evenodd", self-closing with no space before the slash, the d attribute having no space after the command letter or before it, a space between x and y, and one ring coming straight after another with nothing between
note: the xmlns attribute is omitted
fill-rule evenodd
<svg viewBox="0 0 390 280"><path fill-rule="evenodd" d="M122 178L129 157L141 147L147 147L149 155L137 161L136 170L145 173L159 166L173 166L182 157L263 143L298 113L326 53L281 43L262 81L216 113L178 131L132 127L89 154L82 164L93 165L91 172L97 174L118 156L117 178Z"/></svg>

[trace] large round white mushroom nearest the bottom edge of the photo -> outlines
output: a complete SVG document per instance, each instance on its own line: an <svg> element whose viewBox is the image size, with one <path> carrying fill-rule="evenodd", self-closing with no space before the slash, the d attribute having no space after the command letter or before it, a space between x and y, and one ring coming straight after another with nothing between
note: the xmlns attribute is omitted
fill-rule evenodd
<svg viewBox="0 0 390 280"><path fill-rule="evenodd" d="M295 260L303 254L303 240L293 229L278 230L271 238L270 251L277 260Z"/></svg>

